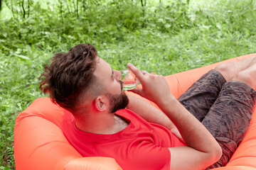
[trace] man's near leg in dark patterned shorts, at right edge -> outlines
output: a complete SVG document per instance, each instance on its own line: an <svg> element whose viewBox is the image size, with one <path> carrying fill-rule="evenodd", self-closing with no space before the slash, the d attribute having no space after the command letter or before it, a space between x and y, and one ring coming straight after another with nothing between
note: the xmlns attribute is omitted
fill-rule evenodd
<svg viewBox="0 0 256 170"><path fill-rule="evenodd" d="M225 166L242 142L255 105L256 64L239 72L223 85L218 98L203 119L223 149L223 156L208 169Z"/></svg>

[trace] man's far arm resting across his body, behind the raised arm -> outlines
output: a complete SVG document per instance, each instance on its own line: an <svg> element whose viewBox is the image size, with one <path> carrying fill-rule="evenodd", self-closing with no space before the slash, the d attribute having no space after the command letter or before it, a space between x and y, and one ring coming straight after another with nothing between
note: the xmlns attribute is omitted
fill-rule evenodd
<svg viewBox="0 0 256 170"><path fill-rule="evenodd" d="M164 114L158 108L152 106L149 103L146 103L146 101L142 101L137 97L128 95L128 98L129 98L129 104L127 108L129 110L133 111L134 113L137 113L149 123L156 123L159 125L163 125L167 129L171 130L171 132L174 135L176 135L178 139L183 141L180 132L178 132L178 129L176 128L174 123L171 122L171 120L168 118L166 114Z"/></svg>

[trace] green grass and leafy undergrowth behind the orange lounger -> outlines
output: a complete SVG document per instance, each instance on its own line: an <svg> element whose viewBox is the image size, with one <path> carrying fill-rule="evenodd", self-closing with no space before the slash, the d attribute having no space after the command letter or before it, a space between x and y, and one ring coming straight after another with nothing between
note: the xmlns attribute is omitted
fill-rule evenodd
<svg viewBox="0 0 256 170"><path fill-rule="evenodd" d="M16 115L43 96L38 77L56 52L90 42L113 69L131 62L163 75L256 52L255 1L173 1L146 8L138 1L111 2L87 4L77 17L66 2L60 13L58 3L50 10L35 1L29 18L19 11L10 20L0 18L0 169L15 169Z"/></svg>

